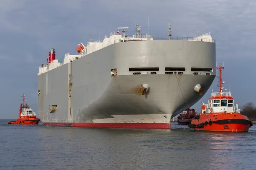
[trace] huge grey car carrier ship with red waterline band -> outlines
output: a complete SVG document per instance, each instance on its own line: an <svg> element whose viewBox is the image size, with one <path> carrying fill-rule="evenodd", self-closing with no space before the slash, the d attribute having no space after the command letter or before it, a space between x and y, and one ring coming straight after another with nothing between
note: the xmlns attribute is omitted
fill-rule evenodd
<svg viewBox="0 0 256 170"><path fill-rule="evenodd" d="M215 78L215 40L126 35L80 43L77 55L49 61L38 73L38 113L44 125L170 128Z"/></svg>

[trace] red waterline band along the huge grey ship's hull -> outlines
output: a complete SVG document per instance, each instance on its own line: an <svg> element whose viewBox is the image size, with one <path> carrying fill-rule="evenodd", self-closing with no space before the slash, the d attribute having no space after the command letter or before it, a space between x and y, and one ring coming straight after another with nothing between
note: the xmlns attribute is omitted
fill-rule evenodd
<svg viewBox="0 0 256 170"><path fill-rule="evenodd" d="M42 123L64 127L171 129L170 123Z"/></svg>

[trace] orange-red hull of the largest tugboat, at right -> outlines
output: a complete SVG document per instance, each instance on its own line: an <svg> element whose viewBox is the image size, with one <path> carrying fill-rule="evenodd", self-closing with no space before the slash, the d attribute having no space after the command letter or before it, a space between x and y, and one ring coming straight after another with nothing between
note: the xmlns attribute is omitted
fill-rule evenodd
<svg viewBox="0 0 256 170"><path fill-rule="evenodd" d="M248 132L252 122L240 113L209 113L194 119L189 127L198 131Z"/></svg>

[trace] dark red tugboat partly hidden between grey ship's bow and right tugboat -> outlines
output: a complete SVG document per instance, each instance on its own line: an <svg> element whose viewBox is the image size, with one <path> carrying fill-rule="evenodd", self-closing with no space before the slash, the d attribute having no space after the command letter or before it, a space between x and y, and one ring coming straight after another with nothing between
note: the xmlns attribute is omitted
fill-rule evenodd
<svg viewBox="0 0 256 170"><path fill-rule="evenodd" d="M192 119L199 119L199 114L195 112L195 109L187 109L180 113L177 117L178 125L189 125Z"/></svg>

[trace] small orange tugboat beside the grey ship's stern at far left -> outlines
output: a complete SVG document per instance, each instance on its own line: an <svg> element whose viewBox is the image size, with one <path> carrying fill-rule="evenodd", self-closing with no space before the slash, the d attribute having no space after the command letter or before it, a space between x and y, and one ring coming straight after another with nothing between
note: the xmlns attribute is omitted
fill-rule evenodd
<svg viewBox="0 0 256 170"><path fill-rule="evenodd" d="M8 124L20 124L20 125L36 125L39 123L39 119L36 117L35 112L31 108L29 108L29 105L25 103L26 99L23 94L23 103L20 103L20 113L19 118L16 121L9 121ZM23 111L22 111L22 108Z"/></svg>

